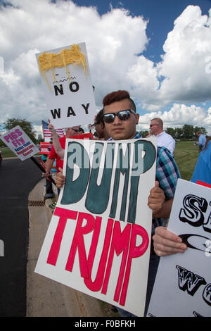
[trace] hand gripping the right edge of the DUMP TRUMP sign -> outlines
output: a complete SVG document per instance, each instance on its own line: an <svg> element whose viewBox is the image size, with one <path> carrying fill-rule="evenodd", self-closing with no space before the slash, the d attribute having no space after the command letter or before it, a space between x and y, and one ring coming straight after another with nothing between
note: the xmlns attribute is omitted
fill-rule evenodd
<svg viewBox="0 0 211 331"><path fill-rule="evenodd" d="M153 216L162 209L162 205L165 201L165 194L159 187L159 182L155 182L155 186L151 189L150 195L148 196L148 206L153 210Z"/></svg>

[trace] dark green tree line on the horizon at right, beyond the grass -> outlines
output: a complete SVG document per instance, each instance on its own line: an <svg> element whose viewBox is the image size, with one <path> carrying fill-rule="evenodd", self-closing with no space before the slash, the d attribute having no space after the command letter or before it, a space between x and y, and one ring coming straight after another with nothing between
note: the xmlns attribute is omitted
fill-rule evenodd
<svg viewBox="0 0 211 331"><path fill-rule="evenodd" d="M202 132L203 135L207 135L207 130L205 127L193 127L193 125L185 124L183 127L167 127L165 132L171 135L174 139L177 140L198 140L196 132ZM146 137L148 135L148 131L140 131L142 137Z"/></svg>

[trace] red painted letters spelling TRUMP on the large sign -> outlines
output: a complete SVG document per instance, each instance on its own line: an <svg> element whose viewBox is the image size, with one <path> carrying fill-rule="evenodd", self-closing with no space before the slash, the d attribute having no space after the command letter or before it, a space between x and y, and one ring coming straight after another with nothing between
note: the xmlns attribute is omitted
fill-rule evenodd
<svg viewBox="0 0 211 331"><path fill-rule="evenodd" d="M114 301L120 301L120 304L124 306L127 296L132 259L142 256L148 248L149 239L146 230L144 230L140 225L132 223L126 223L124 229L121 230L120 224L123 224L122 222L108 218L96 278L92 281L91 272L94 265L96 247L101 232L102 218L98 216L94 217L89 213L68 211L63 208L56 208L54 215L59 216L59 220L55 235L53 237L53 242L51 244L51 249L49 251L47 263L56 266L63 232L65 231L65 225L68 220L70 222L77 222L65 270L72 272L76 251L78 250L79 268L81 277L84 278L85 285L93 292L98 292L101 290L101 293L106 294L108 290L110 272L113 266L114 254L119 256L122 253L122 261L119 275L117 277ZM87 223L82 226L84 220L86 220ZM86 252L84 238L85 235L91 232L93 232L91 245L89 247L89 251ZM136 239L138 236L141 237L141 244L136 246Z"/></svg>

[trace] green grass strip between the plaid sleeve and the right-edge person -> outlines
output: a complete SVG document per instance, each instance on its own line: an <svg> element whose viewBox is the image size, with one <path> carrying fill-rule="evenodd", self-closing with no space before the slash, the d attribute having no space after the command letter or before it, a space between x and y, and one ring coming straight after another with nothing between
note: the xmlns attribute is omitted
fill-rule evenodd
<svg viewBox="0 0 211 331"><path fill-rule="evenodd" d="M195 146L193 142L177 142L174 159L177 162L182 179L191 180L198 160L198 146Z"/></svg>

